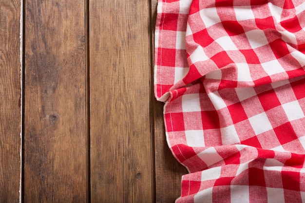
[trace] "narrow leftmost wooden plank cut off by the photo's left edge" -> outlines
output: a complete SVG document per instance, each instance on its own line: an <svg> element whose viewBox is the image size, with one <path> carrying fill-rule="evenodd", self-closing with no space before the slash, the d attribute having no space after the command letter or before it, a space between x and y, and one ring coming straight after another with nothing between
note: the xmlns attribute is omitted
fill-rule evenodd
<svg viewBox="0 0 305 203"><path fill-rule="evenodd" d="M20 0L0 0L0 202L18 203L20 184Z"/></svg>

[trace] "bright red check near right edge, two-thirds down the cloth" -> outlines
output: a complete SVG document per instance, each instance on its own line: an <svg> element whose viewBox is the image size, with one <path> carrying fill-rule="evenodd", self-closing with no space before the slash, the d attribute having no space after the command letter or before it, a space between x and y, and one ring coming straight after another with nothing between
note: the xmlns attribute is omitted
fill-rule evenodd
<svg viewBox="0 0 305 203"><path fill-rule="evenodd" d="M295 134L291 124L285 123L279 127L273 129L279 142L283 145L287 142L293 141L298 139L297 135Z"/></svg>

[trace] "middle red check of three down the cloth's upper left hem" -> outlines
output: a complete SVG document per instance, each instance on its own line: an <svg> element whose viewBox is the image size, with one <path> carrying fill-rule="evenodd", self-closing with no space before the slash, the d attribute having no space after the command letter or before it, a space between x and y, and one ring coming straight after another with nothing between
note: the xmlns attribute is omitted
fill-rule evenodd
<svg viewBox="0 0 305 203"><path fill-rule="evenodd" d="M157 65L175 67L176 50L158 48L158 58Z"/></svg>

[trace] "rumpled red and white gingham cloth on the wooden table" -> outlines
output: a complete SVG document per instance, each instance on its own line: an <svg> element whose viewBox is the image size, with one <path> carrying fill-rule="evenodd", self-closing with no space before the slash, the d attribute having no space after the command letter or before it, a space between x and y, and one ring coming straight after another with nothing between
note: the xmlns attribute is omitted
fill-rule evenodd
<svg viewBox="0 0 305 203"><path fill-rule="evenodd" d="M305 202L304 0L158 0L176 203Z"/></svg>

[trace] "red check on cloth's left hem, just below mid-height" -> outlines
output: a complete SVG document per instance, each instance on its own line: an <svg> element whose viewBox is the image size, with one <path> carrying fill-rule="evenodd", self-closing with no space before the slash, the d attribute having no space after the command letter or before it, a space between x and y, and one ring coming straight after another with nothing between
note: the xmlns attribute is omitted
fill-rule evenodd
<svg viewBox="0 0 305 203"><path fill-rule="evenodd" d="M184 128L183 113L166 113L164 115L168 131L182 131Z"/></svg>

